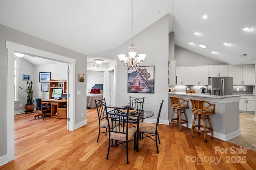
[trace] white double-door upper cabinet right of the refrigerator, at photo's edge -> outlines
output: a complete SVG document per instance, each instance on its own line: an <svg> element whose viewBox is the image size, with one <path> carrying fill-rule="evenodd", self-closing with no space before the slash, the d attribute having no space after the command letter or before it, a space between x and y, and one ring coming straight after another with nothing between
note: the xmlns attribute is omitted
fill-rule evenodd
<svg viewBox="0 0 256 170"><path fill-rule="evenodd" d="M230 77L233 77L234 86L254 86L255 85L255 65L234 65L229 68Z"/></svg>

